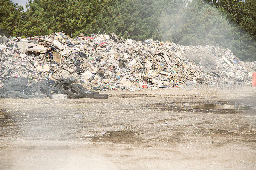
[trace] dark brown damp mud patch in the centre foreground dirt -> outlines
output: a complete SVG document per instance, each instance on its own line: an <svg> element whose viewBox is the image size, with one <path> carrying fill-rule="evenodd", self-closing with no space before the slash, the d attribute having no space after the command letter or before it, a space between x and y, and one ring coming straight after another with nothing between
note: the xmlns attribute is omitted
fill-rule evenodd
<svg viewBox="0 0 256 170"><path fill-rule="evenodd" d="M106 133L92 137L91 142L112 142L133 144L142 141L140 133L129 130L107 131Z"/></svg>

